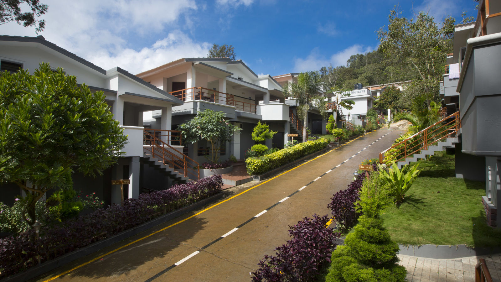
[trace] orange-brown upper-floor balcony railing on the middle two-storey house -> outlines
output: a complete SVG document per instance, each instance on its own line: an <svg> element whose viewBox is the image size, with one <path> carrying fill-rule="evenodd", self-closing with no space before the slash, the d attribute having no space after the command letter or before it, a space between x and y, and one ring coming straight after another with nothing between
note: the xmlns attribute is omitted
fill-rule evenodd
<svg viewBox="0 0 501 282"><path fill-rule="evenodd" d="M234 95L203 87L191 87L169 94L183 100L201 100L236 107L236 110L256 113L256 104L235 100Z"/></svg>

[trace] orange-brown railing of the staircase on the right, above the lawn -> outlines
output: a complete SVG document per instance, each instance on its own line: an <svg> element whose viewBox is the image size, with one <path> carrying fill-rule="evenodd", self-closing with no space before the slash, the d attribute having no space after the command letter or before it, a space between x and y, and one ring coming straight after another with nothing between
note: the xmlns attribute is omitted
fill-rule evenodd
<svg viewBox="0 0 501 282"><path fill-rule="evenodd" d="M459 128L461 128L461 122L459 120L459 112L457 111L379 153L379 163L383 163L385 154L391 149L396 148L398 150L398 152L392 153L395 154L395 162L405 160L405 158L421 150L427 150L428 146L455 135L459 131Z"/></svg>

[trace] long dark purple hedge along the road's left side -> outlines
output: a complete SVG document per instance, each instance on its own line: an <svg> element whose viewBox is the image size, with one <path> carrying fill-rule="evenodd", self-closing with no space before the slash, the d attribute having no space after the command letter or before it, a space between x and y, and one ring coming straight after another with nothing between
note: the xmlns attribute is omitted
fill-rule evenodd
<svg viewBox="0 0 501 282"><path fill-rule="evenodd" d="M4 278L37 264L85 247L131 227L147 222L177 208L217 194L222 187L220 175L197 182L174 185L168 190L141 194L138 199L126 199L123 205L98 209L64 225L0 239L0 278Z"/></svg>

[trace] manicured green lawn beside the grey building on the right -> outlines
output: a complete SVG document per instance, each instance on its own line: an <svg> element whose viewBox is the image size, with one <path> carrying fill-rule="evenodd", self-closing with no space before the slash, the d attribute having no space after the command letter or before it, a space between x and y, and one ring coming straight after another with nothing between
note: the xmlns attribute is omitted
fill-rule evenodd
<svg viewBox="0 0 501 282"><path fill-rule="evenodd" d="M421 163L405 201L383 214L391 238L408 245L501 246L501 230L486 224L485 183L454 177L454 155L437 152Z"/></svg>

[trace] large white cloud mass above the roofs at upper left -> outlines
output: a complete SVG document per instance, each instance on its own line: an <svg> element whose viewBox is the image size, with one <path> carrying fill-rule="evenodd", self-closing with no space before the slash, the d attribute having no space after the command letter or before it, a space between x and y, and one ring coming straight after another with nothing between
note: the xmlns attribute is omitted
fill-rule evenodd
<svg viewBox="0 0 501 282"><path fill-rule="evenodd" d="M44 4L49 9L42 16L47 24L40 35L104 69L119 66L138 73L182 57L203 57L210 47L177 28L198 10L194 0L45 0ZM2 25L2 34L36 36L34 27L16 23ZM159 40L150 47L134 50L155 38ZM137 44L140 41L145 42Z"/></svg>

